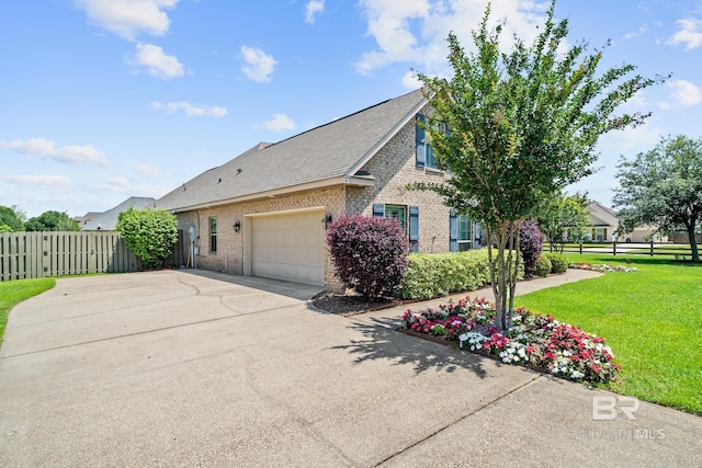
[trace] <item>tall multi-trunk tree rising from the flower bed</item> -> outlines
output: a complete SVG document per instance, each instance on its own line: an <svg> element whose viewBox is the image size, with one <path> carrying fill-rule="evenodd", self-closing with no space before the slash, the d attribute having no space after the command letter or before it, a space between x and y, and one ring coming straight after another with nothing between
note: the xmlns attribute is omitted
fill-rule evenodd
<svg viewBox="0 0 702 468"><path fill-rule="evenodd" d="M629 77L633 65L598 73L603 50L568 47L568 22L554 22L551 2L536 39L514 37L502 53L502 23L488 27L490 7L472 32L473 52L448 37L453 77L417 73L433 109L423 125L441 167L443 183L431 190L448 206L468 214L487 230L496 327L512 326L520 222L535 215L541 198L593 172L601 135L642 124L649 114L614 115L637 91L664 77Z"/></svg>

